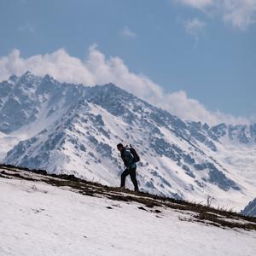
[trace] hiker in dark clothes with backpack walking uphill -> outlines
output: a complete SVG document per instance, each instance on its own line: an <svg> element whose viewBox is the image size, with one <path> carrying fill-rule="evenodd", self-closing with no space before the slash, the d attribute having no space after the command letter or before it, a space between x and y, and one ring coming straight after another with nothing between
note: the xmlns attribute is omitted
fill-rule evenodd
<svg viewBox="0 0 256 256"><path fill-rule="evenodd" d="M121 189L125 189L125 177L130 175L131 181L134 185L134 191L138 191L137 178L136 178L136 162L139 160L139 156L135 157L131 154L131 148L125 148L123 144L117 145L118 150L121 153L121 158L125 164L125 171L121 174ZM134 148L132 148L135 150Z"/></svg>

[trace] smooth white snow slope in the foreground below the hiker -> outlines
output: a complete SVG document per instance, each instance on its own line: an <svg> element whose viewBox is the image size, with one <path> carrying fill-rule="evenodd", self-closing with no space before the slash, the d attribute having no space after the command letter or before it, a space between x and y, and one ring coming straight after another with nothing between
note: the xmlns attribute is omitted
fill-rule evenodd
<svg viewBox="0 0 256 256"><path fill-rule="evenodd" d="M120 191L82 195L47 182L61 178L3 168L0 173L0 255L253 256L256 251L255 223L250 231L218 227L196 221L195 212L177 210L175 203L146 207L125 201Z"/></svg>

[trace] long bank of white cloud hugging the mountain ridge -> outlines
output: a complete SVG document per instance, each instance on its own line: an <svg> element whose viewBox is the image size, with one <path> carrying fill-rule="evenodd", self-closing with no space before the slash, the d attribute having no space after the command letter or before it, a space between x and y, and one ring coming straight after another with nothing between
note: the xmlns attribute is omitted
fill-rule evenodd
<svg viewBox="0 0 256 256"><path fill-rule="evenodd" d="M49 74L61 82L95 85L112 82L134 95L164 108L183 119L207 122L216 125L220 122L245 123L247 119L236 118L224 113L212 113L200 102L189 98L184 91L166 93L143 74L131 73L119 57L107 58L96 45L90 46L84 61L58 49L50 54L20 56L14 49L9 55L0 57L0 80L11 74L21 75L27 70L39 76Z"/></svg>

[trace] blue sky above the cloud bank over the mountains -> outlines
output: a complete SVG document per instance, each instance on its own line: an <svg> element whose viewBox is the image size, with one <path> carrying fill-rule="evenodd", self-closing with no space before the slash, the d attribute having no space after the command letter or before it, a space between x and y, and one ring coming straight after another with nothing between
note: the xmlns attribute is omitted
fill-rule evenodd
<svg viewBox="0 0 256 256"><path fill-rule="evenodd" d="M183 90L209 111L248 118L256 113L256 1L217 2L0 0L0 57L64 48L84 60L97 44L166 93Z"/></svg>

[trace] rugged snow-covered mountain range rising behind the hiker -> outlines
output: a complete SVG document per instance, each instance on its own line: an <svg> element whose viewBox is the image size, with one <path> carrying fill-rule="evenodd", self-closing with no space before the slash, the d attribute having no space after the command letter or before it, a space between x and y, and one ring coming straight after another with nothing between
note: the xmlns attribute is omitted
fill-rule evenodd
<svg viewBox="0 0 256 256"><path fill-rule="evenodd" d="M144 190L241 207L256 185L256 125L185 122L114 84L12 76L0 84L0 131L22 135L3 159L12 165L119 185L116 144L132 143Z"/></svg>

